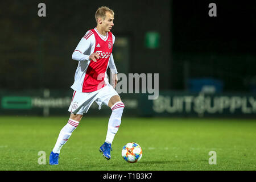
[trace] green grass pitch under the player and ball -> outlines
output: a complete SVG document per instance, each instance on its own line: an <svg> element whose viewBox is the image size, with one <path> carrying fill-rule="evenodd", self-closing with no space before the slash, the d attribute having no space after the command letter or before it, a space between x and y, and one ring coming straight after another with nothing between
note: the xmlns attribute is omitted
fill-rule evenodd
<svg viewBox="0 0 256 182"><path fill-rule="evenodd" d="M60 152L58 166L49 154L68 117L0 117L0 170L255 170L256 119L122 118L112 147L112 159L98 151L109 118L82 118ZM136 142L138 163L122 159L122 147ZM46 164L39 164L39 151ZM209 164L216 151L217 164Z"/></svg>

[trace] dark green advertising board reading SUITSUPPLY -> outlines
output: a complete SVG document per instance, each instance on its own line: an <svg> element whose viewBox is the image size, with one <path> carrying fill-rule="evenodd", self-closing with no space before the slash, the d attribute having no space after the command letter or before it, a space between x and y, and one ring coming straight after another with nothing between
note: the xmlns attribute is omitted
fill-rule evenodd
<svg viewBox="0 0 256 182"><path fill-rule="evenodd" d="M144 116L256 117L256 94L159 92L157 100L141 102Z"/></svg>

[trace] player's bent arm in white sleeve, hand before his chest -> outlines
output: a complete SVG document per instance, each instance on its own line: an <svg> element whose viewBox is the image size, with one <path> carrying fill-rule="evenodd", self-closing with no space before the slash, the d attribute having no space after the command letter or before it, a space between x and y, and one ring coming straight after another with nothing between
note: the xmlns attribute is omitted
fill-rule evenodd
<svg viewBox="0 0 256 182"><path fill-rule="evenodd" d="M87 31L85 36L80 40L75 51L72 54L72 59L77 61L97 61L100 56L97 53L92 53L92 55L84 55L84 52L87 51L95 44L95 38L92 31Z"/></svg>

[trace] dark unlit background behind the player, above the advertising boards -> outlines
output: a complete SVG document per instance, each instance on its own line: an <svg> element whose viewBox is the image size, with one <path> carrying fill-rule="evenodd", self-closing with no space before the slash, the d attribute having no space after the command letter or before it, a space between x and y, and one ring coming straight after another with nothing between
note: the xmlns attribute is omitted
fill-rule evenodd
<svg viewBox="0 0 256 182"><path fill-rule="evenodd" d="M208 15L211 2L217 17ZM1 1L0 89L69 89L72 52L102 5L115 12L115 37L130 38L129 73L159 73L160 90L208 77L223 81L224 92L253 92L255 1ZM147 31L159 32L159 48L144 46Z"/></svg>

